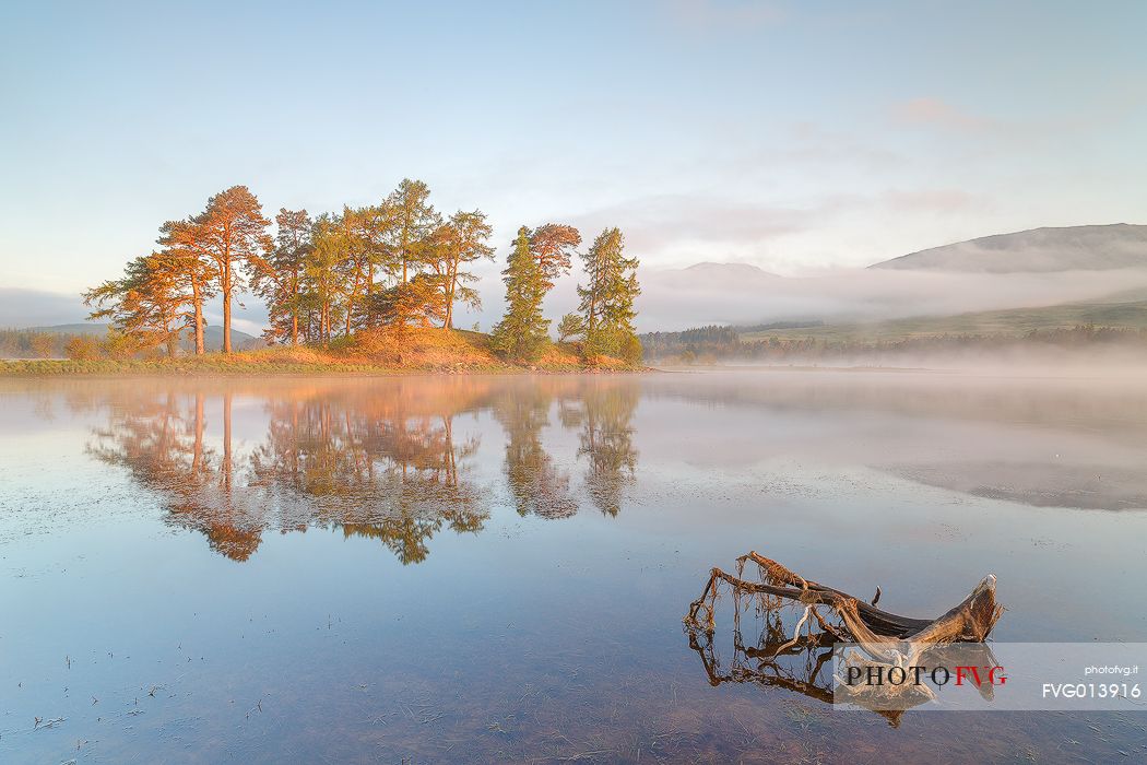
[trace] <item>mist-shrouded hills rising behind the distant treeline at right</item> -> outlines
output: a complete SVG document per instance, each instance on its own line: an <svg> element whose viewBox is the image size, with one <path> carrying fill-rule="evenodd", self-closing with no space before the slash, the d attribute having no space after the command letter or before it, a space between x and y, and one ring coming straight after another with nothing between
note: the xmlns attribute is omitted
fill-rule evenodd
<svg viewBox="0 0 1147 765"><path fill-rule="evenodd" d="M778 276L747 264L642 270L641 289L641 331L805 319L841 325L1098 302L1134 304L1147 294L1147 226L1038 228L924 250L875 267L796 276ZM1141 310L1141 304L1124 310Z"/></svg>

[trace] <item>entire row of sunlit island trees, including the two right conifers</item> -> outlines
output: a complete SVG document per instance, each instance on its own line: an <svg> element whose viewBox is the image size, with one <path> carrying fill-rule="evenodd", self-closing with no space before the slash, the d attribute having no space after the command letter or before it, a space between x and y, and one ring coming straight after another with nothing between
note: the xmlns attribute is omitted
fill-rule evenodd
<svg viewBox="0 0 1147 765"><path fill-rule="evenodd" d="M120 279L87 290L92 319L107 319L120 354L163 349L179 352L189 328L204 353L204 306L223 305L223 351L232 352L232 305L253 292L267 306L268 343L327 348L362 330L454 326L454 307L478 307L474 264L494 259L492 229L481 210L445 217L422 181L405 179L379 204L344 206L311 216L281 209L273 225L258 198L234 186L206 208L159 227L157 249L131 260ZM572 226L522 227L502 272L507 310L492 336L506 358L531 360L549 341L541 306L554 280L580 255L587 283L578 288L579 312L567 315L561 339L582 343L584 356L641 356L633 330L640 292L635 258L609 228L579 253ZM400 333L397 333L400 335Z"/></svg>

